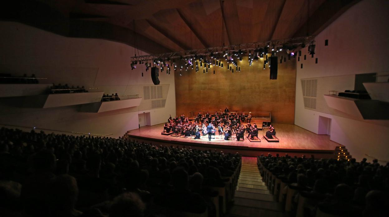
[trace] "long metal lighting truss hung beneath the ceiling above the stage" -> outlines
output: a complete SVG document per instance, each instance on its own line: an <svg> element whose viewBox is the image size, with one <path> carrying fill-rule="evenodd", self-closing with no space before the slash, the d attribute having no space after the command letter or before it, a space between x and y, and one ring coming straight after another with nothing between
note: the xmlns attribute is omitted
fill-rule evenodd
<svg viewBox="0 0 389 217"><path fill-rule="evenodd" d="M246 50L253 50L253 49L260 49L264 47L274 46L277 47L283 47L283 46L300 46L301 44L310 44L313 43L315 39L315 36L305 36L305 37L298 37L298 38L287 38L287 39L280 39L280 40L271 40L271 41L265 41L265 42L252 42L252 43L244 43L244 44L238 44L238 45L227 45L227 46L219 46L219 47L210 47L210 48L202 48L202 49L196 49L196 50L184 50L184 51L177 51L177 52L170 52L170 53L163 53L163 54L151 54L151 55L144 55L144 56L134 56L131 57L131 61L152 61L157 59L162 60L173 60L173 59L182 59L185 57L192 57L194 55L197 56L206 56L206 55L215 55L215 54L223 54L224 52L235 52L235 51L246 51Z"/></svg>

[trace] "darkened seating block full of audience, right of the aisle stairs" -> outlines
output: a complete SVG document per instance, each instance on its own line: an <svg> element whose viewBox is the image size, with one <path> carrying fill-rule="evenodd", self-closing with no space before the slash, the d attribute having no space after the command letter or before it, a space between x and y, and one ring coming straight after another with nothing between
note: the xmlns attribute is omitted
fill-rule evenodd
<svg viewBox="0 0 389 217"><path fill-rule="evenodd" d="M288 216L386 216L389 163L258 156L263 181Z"/></svg>

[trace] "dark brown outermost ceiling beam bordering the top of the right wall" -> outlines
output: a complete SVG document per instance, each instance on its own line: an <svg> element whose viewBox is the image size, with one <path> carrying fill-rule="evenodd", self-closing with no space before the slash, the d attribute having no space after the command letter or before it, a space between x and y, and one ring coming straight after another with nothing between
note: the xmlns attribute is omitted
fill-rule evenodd
<svg viewBox="0 0 389 217"><path fill-rule="evenodd" d="M318 35L329 24L335 21L352 5L361 0L328 0L320 5L319 8L310 16L303 25L294 33L293 37L306 35ZM307 29L308 27L308 29Z"/></svg>

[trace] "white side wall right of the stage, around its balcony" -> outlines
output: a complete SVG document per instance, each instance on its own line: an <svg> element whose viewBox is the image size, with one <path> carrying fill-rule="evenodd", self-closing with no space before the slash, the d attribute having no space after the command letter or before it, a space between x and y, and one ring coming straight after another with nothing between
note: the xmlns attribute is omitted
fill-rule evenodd
<svg viewBox="0 0 389 217"><path fill-rule="evenodd" d="M351 155L361 160L365 154L389 160L389 128L304 108L301 78L315 78L360 73L388 74L389 1L363 0L352 6L316 36L316 55L307 48L297 62L295 124L318 133L319 116L331 118L331 140L345 145ZM324 46L324 40L329 45ZM296 58L297 61L297 58ZM303 63L303 69L300 64ZM367 157L370 159L369 157Z"/></svg>

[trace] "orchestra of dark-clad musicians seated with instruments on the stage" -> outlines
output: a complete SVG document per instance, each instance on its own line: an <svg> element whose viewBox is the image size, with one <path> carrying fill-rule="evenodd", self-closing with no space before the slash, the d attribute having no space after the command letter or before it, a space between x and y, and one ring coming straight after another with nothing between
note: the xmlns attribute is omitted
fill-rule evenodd
<svg viewBox="0 0 389 217"><path fill-rule="evenodd" d="M245 134L250 139L258 137L258 126L256 123L251 124L251 112L247 116L244 112L238 115L238 113L230 112L226 108L224 111L216 111L214 115L211 115L208 111L205 114L198 112L194 118L192 120L184 114L179 117L175 116L175 118L170 116L168 122L163 125L163 131L166 133L173 132L176 136L183 135L184 138L195 136L195 139L200 139L200 135L214 135L216 131L219 132L219 135L224 135L224 140L230 140L233 135L235 135L236 141L244 140ZM247 121L247 125L242 124L245 121ZM211 131L208 128L209 126L211 126ZM273 139L273 135L275 135L275 129L270 125L266 137Z"/></svg>

